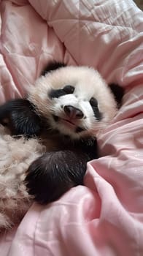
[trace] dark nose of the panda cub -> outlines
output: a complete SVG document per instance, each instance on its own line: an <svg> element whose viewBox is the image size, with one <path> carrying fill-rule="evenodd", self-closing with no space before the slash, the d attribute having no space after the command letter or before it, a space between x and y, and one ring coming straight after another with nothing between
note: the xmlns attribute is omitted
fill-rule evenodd
<svg viewBox="0 0 143 256"><path fill-rule="evenodd" d="M84 116L80 109L75 108L71 105L64 106L63 110L66 113L66 116L68 116L69 118L81 119Z"/></svg>

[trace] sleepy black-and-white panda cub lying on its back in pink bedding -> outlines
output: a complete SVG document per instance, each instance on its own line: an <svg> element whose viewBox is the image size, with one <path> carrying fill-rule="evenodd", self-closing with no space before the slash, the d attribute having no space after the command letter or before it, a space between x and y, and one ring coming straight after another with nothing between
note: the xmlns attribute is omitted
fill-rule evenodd
<svg viewBox="0 0 143 256"><path fill-rule="evenodd" d="M0 107L12 136L39 138L47 151L26 171L26 188L39 203L83 184L87 162L98 157L96 136L114 118L123 97L90 67L48 64L25 99Z"/></svg>

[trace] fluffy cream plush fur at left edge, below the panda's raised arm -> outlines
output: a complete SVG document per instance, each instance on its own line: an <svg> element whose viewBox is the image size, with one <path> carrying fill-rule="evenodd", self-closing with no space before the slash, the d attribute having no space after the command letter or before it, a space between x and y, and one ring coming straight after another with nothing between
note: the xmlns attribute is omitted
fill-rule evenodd
<svg viewBox="0 0 143 256"><path fill-rule="evenodd" d="M36 140L15 139L0 125L0 232L19 224L32 197L26 192L26 170L45 146Z"/></svg>

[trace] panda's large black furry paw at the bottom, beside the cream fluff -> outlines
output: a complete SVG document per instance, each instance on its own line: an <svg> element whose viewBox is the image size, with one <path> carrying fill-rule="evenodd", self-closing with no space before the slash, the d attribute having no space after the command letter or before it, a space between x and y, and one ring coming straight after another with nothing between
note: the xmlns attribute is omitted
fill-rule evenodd
<svg viewBox="0 0 143 256"><path fill-rule="evenodd" d="M87 159L70 150L45 153L26 173L28 193L39 203L57 200L71 187L82 184Z"/></svg>

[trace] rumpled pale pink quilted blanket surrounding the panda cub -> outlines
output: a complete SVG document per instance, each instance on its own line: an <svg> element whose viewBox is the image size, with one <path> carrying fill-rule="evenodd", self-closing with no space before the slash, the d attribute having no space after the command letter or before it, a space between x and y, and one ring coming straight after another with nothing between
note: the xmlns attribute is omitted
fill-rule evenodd
<svg viewBox="0 0 143 256"><path fill-rule="evenodd" d="M34 203L1 236L1 256L143 255L142 11L131 0L1 0L0 11L1 102L23 96L50 59L90 65L126 89L85 187Z"/></svg>

